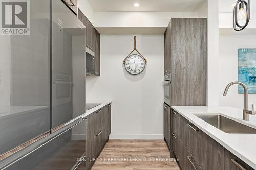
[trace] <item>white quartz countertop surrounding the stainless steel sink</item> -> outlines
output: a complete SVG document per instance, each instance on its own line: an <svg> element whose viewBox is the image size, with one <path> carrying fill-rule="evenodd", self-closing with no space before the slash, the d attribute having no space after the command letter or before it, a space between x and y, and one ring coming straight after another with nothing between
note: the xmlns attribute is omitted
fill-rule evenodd
<svg viewBox="0 0 256 170"><path fill-rule="evenodd" d="M225 133L204 122L204 120L194 114L221 114L255 129L256 116L250 115L250 121L246 122L243 120L243 110L233 107L172 106L172 108L204 133L223 145L224 148L256 169L256 134Z"/></svg>

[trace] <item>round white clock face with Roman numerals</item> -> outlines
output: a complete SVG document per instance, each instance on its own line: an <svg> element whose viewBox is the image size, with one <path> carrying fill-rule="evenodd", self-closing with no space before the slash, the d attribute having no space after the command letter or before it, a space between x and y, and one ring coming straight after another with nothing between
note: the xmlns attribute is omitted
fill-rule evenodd
<svg viewBox="0 0 256 170"><path fill-rule="evenodd" d="M130 74L137 75L144 70L145 60L140 55L132 54L125 59L124 65Z"/></svg>

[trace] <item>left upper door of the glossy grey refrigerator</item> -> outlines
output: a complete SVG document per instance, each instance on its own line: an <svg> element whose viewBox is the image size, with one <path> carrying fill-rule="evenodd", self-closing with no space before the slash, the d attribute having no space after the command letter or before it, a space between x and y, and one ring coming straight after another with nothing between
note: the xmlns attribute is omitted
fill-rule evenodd
<svg viewBox="0 0 256 170"><path fill-rule="evenodd" d="M0 36L0 155L50 130L50 0L30 3L30 35Z"/></svg>

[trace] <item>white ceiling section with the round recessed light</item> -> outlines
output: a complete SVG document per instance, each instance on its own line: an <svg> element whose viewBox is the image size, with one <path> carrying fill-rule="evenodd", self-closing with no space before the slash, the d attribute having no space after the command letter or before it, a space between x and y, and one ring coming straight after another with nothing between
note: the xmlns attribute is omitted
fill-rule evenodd
<svg viewBox="0 0 256 170"><path fill-rule="evenodd" d="M197 11L205 0L88 0L88 2L95 12L149 12ZM139 3L140 6L134 7L134 3Z"/></svg>

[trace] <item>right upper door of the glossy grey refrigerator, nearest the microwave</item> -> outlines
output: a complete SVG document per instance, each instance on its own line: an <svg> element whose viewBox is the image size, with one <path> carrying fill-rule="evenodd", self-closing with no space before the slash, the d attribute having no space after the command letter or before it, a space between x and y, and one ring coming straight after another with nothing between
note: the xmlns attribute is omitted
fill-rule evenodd
<svg viewBox="0 0 256 170"><path fill-rule="evenodd" d="M85 113L86 29L61 1L52 2L52 128Z"/></svg>

